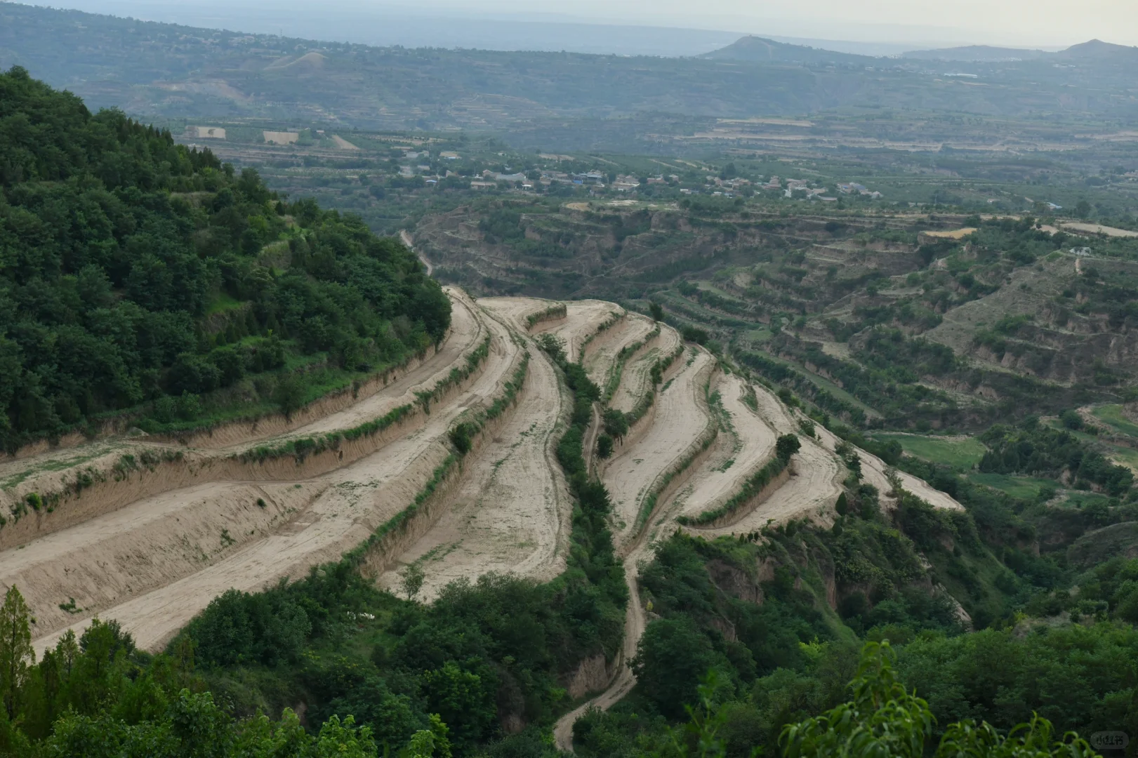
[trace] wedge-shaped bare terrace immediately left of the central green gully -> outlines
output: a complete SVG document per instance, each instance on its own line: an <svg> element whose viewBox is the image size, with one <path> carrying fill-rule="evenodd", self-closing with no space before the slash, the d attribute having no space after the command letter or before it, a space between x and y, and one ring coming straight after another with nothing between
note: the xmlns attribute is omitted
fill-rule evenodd
<svg viewBox="0 0 1138 758"><path fill-rule="evenodd" d="M490 571L552 579L564 570L572 503L554 447L568 397L556 369L531 351L526 390L505 426L463 462L463 481L438 524L380 578L396 591L398 569L424 570L421 599L448 583Z"/></svg>

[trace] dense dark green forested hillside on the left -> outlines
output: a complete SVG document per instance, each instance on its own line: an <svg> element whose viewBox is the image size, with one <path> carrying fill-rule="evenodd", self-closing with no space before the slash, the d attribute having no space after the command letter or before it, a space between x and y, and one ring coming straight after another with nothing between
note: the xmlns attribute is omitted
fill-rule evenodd
<svg viewBox="0 0 1138 758"><path fill-rule="evenodd" d="M156 427L292 410L448 324L415 257L361 221L0 74L5 448L123 409Z"/></svg>

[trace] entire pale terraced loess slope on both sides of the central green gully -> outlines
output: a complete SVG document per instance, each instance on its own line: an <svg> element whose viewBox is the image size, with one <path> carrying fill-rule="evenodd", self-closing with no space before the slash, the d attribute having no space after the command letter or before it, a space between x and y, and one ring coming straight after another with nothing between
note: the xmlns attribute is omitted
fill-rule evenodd
<svg viewBox="0 0 1138 758"><path fill-rule="evenodd" d="M386 536L369 543L364 569L397 588L401 569L418 563L426 599L452 580L489 571L556 576L566 565L572 512L554 456L569 395L536 347L535 333L547 332L574 359L583 356L591 376L610 389L616 385L610 405L648 409L597 471L612 497L615 542L632 601L617 675L592 705L619 700L635 684L627 661L646 624L638 567L651 558L653 542L675 530L681 514L714 509L740 492L770 459L777 435L797 431L799 420L765 388L720 371L698 346L686 348L653 387L652 366L676 353L679 336L610 303L568 303L566 316L530 329L529 316L546 313L550 302L475 303L457 290L450 296L454 327L439 349L356 396L189 440L105 439L0 465L0 497L9 510L28 492L90 477L81 495L73 491L51 512L24 513L0 529L0 584L18 585L31 605L35 648L55 644L66 629L80 631L99 615L117 619L142 648L160 649L226 590L256 591L302 576L377 533ZM618 362L620 351L637 343L644 344ZM483 418L480 410L519 376L525 380L513 402L456 459L450 432ZM750 392L757 410L744 401ZM358 429L401 407L397 419L369 434L323 442L322 435ZM802 437L793 476L769 496L748 504L729 526L694 530L710 537L792 518L828 522L844 468L833 453L834 437L818 434L817 440ZM298 439L313 442L297 453ZM122 458L127 451L134 456L130 465ZM861 459L867 479L884 492L884 467L866 453ZM401 521L436 479L435 494ZM905 484L938 506L958 508L920 480ZM388 529L396 522L403 526ZM577 715L556 725L559 745L571 748Z"/></svg>

